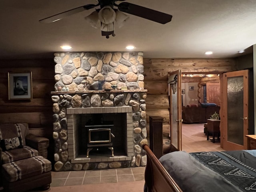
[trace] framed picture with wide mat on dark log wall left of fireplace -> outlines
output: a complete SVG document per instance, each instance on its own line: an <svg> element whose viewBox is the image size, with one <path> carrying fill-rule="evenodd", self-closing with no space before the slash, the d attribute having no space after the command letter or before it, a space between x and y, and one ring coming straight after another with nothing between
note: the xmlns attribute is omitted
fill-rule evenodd
<svg viewBox="0 0 256 192"><path fill-rule="evenodd" d="M32 72L8 72L9 100L32 99Z"/></svg>

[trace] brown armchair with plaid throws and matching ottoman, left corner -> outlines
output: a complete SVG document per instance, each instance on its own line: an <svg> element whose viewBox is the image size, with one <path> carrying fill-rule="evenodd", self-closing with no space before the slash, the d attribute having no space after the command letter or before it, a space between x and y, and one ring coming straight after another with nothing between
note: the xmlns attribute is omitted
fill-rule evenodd
<svg viewBox="0 0 256 192"><path fill-rule="evenodd" d="M24 192L52 182L49 140L28 133L27 123L0 125L0 180L6 192Z"/></svg>

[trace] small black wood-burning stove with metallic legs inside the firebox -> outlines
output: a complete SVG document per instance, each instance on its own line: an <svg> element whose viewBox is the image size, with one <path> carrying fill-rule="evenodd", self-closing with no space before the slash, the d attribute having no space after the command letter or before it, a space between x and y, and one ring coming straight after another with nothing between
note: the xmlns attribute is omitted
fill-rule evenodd
<svg viewBox="0 0 256 192"><path fill-rule="evenodd" d="M115 136L112 134L111 129L114 127L113 123L103 123L95 125L86 125L87 138L87 155L89 158L89 152L96 148L108 148L112 152L114 157L113 139Z"/></svg>

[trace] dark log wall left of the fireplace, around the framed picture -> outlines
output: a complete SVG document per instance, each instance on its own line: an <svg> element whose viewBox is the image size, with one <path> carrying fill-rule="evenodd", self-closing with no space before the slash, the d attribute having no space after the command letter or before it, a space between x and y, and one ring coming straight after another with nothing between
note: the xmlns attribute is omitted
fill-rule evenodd
<svg viewBox="0 0 256 192"><path fill-rule="evenodd" d="M0 60L0 124L27 122L30 132L52 139L53 59ZM8 72L32 71L32 100L8 100Z"/></svg>

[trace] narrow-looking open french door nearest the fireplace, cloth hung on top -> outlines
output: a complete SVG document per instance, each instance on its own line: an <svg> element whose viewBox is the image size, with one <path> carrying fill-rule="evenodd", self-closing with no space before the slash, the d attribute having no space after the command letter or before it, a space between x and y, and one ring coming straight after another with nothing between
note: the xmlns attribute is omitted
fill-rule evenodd
<svg viewBox="0 0 256 192"><path fill-rule="evenodd" d="M170 143L171 151L182 150L182 100L181 71L168 73L168 93L170 101Z"/></svg>

